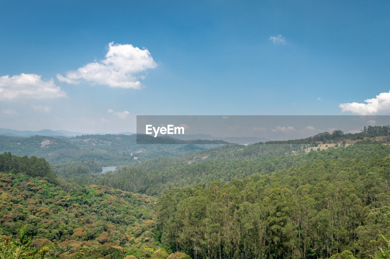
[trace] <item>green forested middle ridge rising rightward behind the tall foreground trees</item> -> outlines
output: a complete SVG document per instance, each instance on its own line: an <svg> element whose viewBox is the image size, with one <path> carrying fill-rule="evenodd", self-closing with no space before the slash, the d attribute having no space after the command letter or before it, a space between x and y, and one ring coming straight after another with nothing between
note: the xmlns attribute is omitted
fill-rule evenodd
<svg viewBox="0 0 390 259"><path fill-rule="evenodd" d="M282 147L283 145L277 145ZM229 147L219 147L224 149ZM213 149L213 150L215 150ZM228 149L230 150L230 149ZM224 154L223 152L221 152ZM348 147L329 148L319 151L316 159L367 159L376 154L381 158L390 156L390 145L383 145L380 142L360 141ZM198 163L177 166L161 166L152 168L149 165L158 166L156 160L153 163L145 163L145 166L135 166L130 168L120 168L115 172L107 172L96 179L87 179L91 183L107 185L125 191L145 193L148 195L160 195L166 188L195 186L213 180L227 182L233 178L242 179L255 173L270 173L277 170L289 169L292 166L301 165L314 160L312 152L298 155L267 155L259 158L248 159L221 159L207 160ZM174 158L172 158L174 159ZM166 165L170 158L161 158L162 164ZM143 169L145 168L145 169Z"/></svg>

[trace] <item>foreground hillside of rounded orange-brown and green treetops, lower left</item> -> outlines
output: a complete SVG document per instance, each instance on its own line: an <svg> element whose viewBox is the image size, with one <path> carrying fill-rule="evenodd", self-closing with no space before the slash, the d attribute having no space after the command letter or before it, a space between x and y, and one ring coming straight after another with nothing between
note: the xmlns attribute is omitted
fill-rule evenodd
<svg viewBox="0 0 390 259"><path fill-rule="evenodd" d="M20 255L30 254L25 258L45 247L45 258L69 259L167 258L172 252L154 240L149 196L57 179L42 158L3 154L0 168L0 237L9 238L0 241L1 258L22 258L13 257L17 242L10 245L20 229L31 247Z"/></svg>

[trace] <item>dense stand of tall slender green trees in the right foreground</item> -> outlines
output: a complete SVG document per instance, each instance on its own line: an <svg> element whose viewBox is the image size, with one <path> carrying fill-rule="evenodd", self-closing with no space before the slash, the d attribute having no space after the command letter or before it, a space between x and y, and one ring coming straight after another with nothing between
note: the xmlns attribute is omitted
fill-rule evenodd
<svg viewBox="0 0 390 259"><path fill-rule="evenodd" d="M289 170L166 190L161 242L193 258L368 258L390 237L389 151L332 148Z"/></svg>

